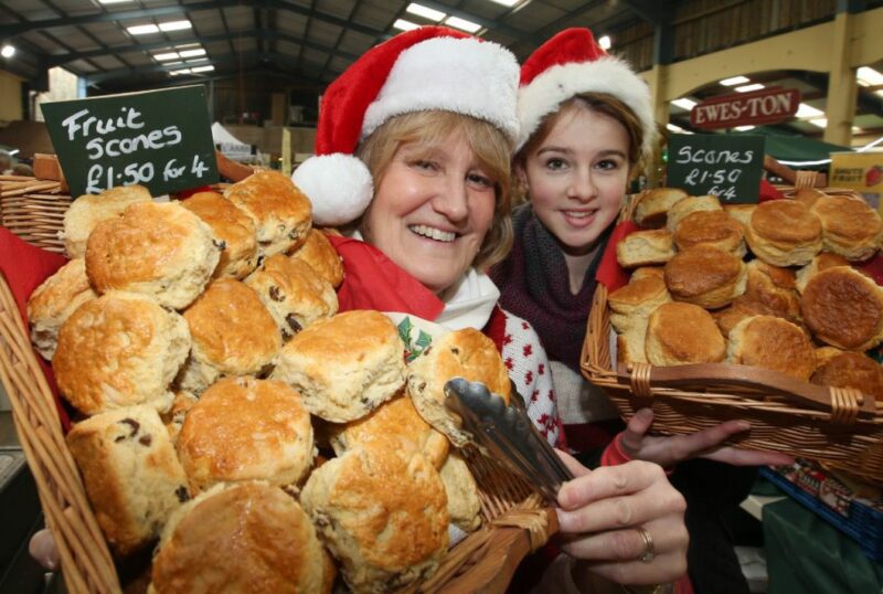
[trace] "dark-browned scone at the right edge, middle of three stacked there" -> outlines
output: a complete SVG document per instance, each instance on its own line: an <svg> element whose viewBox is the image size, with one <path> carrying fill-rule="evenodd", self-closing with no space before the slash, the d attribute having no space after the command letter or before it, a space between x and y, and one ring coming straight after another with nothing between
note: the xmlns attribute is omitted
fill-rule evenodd
<svg viewBox="0 0 883 594"><path fill-rule="evenodd" d="M800 298L804 321L812 335L845 350L865 350L880 341L883 294L853 268L828 268L807 283Z"/></svg>

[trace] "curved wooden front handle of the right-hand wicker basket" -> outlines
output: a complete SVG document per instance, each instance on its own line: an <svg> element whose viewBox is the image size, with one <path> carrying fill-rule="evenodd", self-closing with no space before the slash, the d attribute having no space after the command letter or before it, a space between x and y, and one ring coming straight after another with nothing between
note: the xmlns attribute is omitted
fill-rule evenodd
<svg viewBox="0 0 883 594"><path fill-rule="evenodd" d="M876 402L851 388L815 385L763 368L726 363L655 367L647 363L620 363L617 381L630 385L638 397L653 395L652 388L721 385L722 382L756 391L758 399L784 396L796 405L831 413L832 421L843 424L857 418L874 418Z"/></svg>

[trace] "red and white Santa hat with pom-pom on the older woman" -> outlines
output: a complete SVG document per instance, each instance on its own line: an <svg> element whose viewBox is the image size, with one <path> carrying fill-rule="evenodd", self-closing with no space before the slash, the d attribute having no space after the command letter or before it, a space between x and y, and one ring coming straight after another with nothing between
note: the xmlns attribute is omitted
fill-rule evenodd
<svg viewBox="0 0 883 594"><path fill-rule="evenodd" d="M329 85L316 130L316 156L291 179L312 201L313 221L357 220L373 198L371 173L353 156L387 119L438 109L493 124L514 144L518 62L496 43L444 26L401 33L369 50Z"/></svg>

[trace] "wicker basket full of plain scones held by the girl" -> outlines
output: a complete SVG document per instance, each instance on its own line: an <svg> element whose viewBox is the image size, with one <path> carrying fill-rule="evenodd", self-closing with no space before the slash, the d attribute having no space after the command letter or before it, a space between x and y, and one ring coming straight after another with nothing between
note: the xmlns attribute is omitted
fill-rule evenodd
<svg viewBox="0 0 883 594"><path fill-rule="evenodd" d="M883 341L883 223L861 197L788 188L721 205L656 189L619 225L630 276L598 284L582 369L624 417L651 406L663 434L743 420L742 447L883 481L883 370L868 354Z"/></svg>

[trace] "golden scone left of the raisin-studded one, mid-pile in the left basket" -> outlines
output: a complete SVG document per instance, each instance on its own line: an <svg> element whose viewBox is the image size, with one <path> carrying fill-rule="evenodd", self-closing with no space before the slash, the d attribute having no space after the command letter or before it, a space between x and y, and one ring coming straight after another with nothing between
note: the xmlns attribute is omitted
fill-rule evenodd
<svg viewBox="0 0 883 594"><path fill-rule="evenodd" d="M273 316L241 280L212 280L182 315L200 360L222 373L256 373L283 346Z"/></svg>

